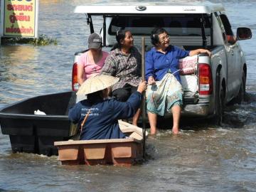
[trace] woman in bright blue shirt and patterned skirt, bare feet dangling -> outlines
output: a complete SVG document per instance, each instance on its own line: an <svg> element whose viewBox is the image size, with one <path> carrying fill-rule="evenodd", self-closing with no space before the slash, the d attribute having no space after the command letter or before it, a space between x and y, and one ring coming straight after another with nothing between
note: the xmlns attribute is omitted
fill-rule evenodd
<svg viewBox="0 0 256 192"><path fill-rule="evenodd" d="M157 115L172 112L172 132L178 134L179 119L182 105L181 78L178 70L178 60L186 56L207 53L206 49L181 50L170 45L170 37L164 28L154 28L151 31L151 43L154 45L146 53L146 109L149 117L150 132L156 134Z"/></svg>

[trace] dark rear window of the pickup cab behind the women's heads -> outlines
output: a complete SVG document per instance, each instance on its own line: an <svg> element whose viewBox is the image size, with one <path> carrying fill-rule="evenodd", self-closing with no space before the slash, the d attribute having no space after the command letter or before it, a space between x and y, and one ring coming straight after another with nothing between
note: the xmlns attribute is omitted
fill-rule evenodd
<svg viewBox="0 0 256 192"><path fill-rule="evenodd" d="M153 28L162 27L170 36L201 36L202 20L206 36L210 36L210 15L176 14L169 16L114 16L108 33L114 35L125 29L133 35L149 35Z"/></svg>

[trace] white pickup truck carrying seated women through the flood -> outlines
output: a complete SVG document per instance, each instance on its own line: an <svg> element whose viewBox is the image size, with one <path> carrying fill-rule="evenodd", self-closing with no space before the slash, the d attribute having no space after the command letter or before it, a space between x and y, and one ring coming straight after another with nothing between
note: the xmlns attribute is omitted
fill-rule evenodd
<svg viewBox="0 0 256 192"><path fill-rule="evenodd" d="M203 54L197 56L196 73L182 78L182 115L215 117L216 123L221 124L225 105L234 100L242 102L247 63L238 41L250 39L252 33L250 28L242 27L237 29L236 35L233 34L221 4L92 5L77 6L75 13L85 14L90 33L101 34L103 50L110 51L116 43L115 34L119 29L132 32L134 45L139 50L144 36L146 49L149 50L152 46L150 33L155 27L165 28L174 46L185 50L210 50L210 58ZM94 31L92 18L102 21L100 31ZM85 51L75 53L73 90L78 89L76 63Z"/></svg>

